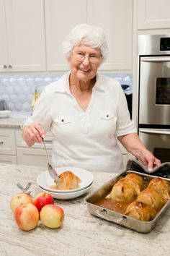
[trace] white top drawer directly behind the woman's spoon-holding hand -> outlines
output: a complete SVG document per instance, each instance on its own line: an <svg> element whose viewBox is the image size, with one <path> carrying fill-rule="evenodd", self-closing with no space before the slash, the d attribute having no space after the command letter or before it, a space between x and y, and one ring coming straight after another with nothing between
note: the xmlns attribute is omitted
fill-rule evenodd
<svg viewBox="0 0 170 256"><path fill-rule="evenodd" d="M16 135L16 143L17 143L17 147L24 147L24 148L28 148L28 145L26 144L26 142L24 142L24 139L22 138L22 129L17 129L15 131L15 135ZM51 132L47 132L47 134L45 135L45 145L46 148L51 149L52 148L52 141L53 141L53 135ZM44 148L43 144L40 143L35 143L32 148Z"/></svg>

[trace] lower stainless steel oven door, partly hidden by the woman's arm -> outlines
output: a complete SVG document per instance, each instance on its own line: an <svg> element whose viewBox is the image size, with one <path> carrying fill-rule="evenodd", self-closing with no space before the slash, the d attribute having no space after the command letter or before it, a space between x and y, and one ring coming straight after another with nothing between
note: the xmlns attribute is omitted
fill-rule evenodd
<svg viewBox="0 0 170 256"><path fill-rule="evenodd" d="M170 162L170 130L139 129L139 137L161 163Z"/></svg>

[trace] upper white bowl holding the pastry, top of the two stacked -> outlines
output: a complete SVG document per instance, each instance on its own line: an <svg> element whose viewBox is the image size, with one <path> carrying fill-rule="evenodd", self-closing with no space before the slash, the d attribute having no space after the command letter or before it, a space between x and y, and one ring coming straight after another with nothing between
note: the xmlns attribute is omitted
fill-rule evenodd
<svg viewBox="0 0 170 256"><path fill-rule="evenodd" d="M58 192L58 193L68 193L68 192L76 192L81 189L85 189L93 182L93 175L91 172L86 171L82 168L77 167L58 167L57 172L58 175L63 173L64 171L71 171L73 174L79 177L81 179L81 182L79 183L79 187L77 189L71 189L71 190L59 190L59 189L52 189L50 188L51 185L55 184L53 178L50 176L48 171L43 171L40 175L37 176L37 184L42 187L42 189L51 191L51 192Z"/></svg>

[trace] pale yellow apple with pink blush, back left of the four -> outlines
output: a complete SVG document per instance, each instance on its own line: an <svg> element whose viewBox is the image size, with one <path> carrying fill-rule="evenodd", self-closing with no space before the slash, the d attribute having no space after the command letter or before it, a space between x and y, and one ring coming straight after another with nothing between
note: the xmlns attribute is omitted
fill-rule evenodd
<svg viewBox="0 0 170 256"><path fill-rule="evenodd" d="M27 195L25 193L18 193L17 195L14 195L14 197L12 197L12 200L10 202L10 208L12 210L12 213L14 213L14 210L15 208L17 208L18 205L25 202L33 203L32 197L30 197L30 195Z"/></svg>

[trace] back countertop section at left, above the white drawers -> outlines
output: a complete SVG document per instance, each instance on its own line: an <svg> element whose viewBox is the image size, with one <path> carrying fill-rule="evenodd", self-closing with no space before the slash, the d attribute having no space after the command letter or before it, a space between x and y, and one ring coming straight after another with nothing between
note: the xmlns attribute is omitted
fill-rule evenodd
<svg viewBox="0 0 170 256"><path fill-rule="evenodd" d="M0 128L20 128L22 121L24 120L23 117L0 118Z"/></svg>

